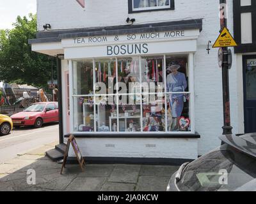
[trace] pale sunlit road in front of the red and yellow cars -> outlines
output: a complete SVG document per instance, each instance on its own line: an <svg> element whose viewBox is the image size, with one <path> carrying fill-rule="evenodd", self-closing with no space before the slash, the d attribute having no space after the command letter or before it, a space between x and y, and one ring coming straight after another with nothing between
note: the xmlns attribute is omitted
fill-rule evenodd
<svg viewBox="0 0 256 204"><path fill-rule="evenodd" d="M42 145L58 140L58 124L45 124L40 129L13 129L10 135L0 137L0 164Z"/></svg>

